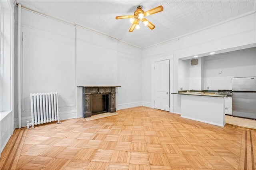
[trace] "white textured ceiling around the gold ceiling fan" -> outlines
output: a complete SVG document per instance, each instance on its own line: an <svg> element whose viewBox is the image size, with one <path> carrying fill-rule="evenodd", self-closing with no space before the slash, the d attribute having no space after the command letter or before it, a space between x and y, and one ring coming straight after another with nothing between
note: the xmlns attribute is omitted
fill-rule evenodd
<svg viewBox="0 0 256 170"><path fill-rule="evenodd" d="M256 1L26 1L17 3L54 17L92 28L118 40L145 48L154 44L208 28L215 24L250 14ZM140 24L140 29L128 32L129 19L116 16L133 14L138 5L144 11L162 5L164 11L147 16L154 30Z"/></svg>

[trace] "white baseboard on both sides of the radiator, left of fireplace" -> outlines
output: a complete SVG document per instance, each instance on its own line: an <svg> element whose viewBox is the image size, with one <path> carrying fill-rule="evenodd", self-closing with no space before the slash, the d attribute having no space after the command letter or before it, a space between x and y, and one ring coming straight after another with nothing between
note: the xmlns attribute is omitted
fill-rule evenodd
<svg viewBox="0 0 256 170"><path fill-rule="evenodd" d="M60 121L76 118L76 110L59 112L59 116L60 116ZM31 116L26 116L21 118L21 127L26 127L27 121L31 123ZM14 127L18 128L18 118L14 119Z"/></svg>

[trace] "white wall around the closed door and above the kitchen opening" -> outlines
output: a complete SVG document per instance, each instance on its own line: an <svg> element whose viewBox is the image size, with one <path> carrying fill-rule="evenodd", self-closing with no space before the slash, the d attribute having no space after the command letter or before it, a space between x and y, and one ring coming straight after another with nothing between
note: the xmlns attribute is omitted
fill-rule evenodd
<svg viewBox="0 0 256 170"><path fill-rule="evenodd" d="M171 29L171 28L170 28ZM151 59L174 55L174 91L178 91L178 59L256 43L256 14L142 50L142 101L151 102ZM145 87L145 88L144 88ZM174 95L174 112L180 113L180 97Z"/></svg>

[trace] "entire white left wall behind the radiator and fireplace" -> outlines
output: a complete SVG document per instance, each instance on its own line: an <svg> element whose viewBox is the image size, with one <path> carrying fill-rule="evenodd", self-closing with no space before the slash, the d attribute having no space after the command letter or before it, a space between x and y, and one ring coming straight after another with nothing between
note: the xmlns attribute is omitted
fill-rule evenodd
<svg viewBox="0 0 256 170"><path fill-rule="evenodd" d="M141 49L23 8L21 20L22 127L31 121L30 93L58 91L61 120L82 116L77 85L121 85L117 109L142 105ZM15 127L17 118L16 107Z"/></svg>

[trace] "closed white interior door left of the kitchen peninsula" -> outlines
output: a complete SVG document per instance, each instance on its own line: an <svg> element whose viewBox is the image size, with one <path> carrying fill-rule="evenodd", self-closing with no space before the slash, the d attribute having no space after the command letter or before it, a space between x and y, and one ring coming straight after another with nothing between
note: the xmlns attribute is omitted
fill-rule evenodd
<svg viewBox="0 0 256 170"><path fill-rule="evenodd" d="M169 111L169 60L154 63L154 108Z"/></svg>

